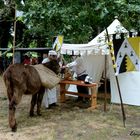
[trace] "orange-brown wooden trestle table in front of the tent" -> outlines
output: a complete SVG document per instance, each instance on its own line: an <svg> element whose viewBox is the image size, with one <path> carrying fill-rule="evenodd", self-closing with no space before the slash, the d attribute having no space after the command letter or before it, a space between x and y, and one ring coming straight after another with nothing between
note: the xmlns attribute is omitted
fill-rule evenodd
<svg viewBox="0 0 140 140"><path fill-rule="evenodd" d="M78 80L61 80L59 84L60 84L60 102L61 103L65 102L66 100L65 94L72 94L72 95L78 95L78 96L90 98L91 99L90 109L95 109L97 107L97 91L98 91L97 83L85 84L83 81L78 81ZM70 85L70 84L87 87L89 91L91 92L91 94L67 91L66 85Z"/></svg>

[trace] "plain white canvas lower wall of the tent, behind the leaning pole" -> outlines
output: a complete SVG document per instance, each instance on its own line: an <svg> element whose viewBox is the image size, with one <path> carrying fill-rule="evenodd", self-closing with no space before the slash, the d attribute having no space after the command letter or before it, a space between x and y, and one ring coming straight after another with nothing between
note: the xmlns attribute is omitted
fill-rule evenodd
<svg viewBox="0 0 140 140"><path fill-rule="evenodd" d="M119 86L124 104L140 106L140 72L131 71L118 75ZM114 76L111 78L111 102L120 103L118 88Z"/></svg>

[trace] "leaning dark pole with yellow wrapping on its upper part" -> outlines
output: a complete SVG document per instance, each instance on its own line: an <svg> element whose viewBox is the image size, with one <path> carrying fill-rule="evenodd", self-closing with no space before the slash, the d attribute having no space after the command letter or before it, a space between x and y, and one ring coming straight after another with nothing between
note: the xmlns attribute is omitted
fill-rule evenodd
<svg viewBox="0 0 140 140"><path fill-rule="evenodd" d="M107 40L110 43L110 39L109 39L107 28L106 28L106 33L107 33ZM112 46L111 46L111 44L109 44L109 49L112 50L111 48L112 48ZM112 57L112 64L114 66L114 72L116 73L115 61L113 60L114 54L113 53L110 53L110 54L111 54L111 57ZM121 95L120 86L119 86L119 80L118 80L118 77L116 75L115 75L115 79L116 79L116 82L117 82L117 88L118 88L120 102L121 102L121 109L122 109L122 116L123 116L123 125L125 127L126 115L125 115L125 111L124 111L124 106L123 106L123 101L122 101L122 95Z"/></svg>

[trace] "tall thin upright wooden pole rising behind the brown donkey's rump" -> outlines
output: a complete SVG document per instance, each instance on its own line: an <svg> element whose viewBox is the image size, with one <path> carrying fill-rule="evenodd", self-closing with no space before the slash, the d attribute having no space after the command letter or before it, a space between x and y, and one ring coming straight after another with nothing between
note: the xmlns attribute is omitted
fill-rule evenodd
<svg viewBox="0 0 140 140"><path fill-rule="evenodd" d="M15 42L16 42L16 4L15 4L15 17L14 17L13 64L15 63Z"/></svg>

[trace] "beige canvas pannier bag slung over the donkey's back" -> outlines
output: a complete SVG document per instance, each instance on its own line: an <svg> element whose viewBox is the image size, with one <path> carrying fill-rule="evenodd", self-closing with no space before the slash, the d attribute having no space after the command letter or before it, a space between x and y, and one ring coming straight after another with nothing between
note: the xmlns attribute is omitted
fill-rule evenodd
<svg viewBox="0 0 140 140"><path fill-rule="evenodd" d="M60 82L60 77L44 65L38 64L33 67L37 70L44 87L51 89Z"/></svg>

